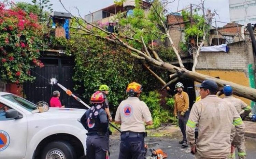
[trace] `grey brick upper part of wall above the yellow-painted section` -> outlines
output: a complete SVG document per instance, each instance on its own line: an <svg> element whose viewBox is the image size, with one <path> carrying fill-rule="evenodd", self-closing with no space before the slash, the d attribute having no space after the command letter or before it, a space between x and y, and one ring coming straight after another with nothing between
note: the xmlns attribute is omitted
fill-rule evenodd
<svg viewBox="0 0 256 159"><path fill-rule="evenodd" d="M201 52L196 69L247 72L248 64L254 65L254 57L250 41L231 43L228 47L230 48L228 53Z"/></svg>

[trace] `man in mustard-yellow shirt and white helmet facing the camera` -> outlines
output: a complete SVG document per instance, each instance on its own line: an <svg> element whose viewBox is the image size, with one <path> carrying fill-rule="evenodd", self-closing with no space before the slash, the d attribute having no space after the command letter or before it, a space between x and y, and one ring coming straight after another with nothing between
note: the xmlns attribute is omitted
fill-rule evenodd
<svg viewBox="0 0 256 159"><path fill-rule="evenodd" d="M188 94L183 91L184 86L182 83L178 82L175 85L177 94L174 95L174 115L179 118L179 127L181 129L183 140L179 141L183 147L187 147L186 138L186 124L189 116L189 98Z"/></svg>

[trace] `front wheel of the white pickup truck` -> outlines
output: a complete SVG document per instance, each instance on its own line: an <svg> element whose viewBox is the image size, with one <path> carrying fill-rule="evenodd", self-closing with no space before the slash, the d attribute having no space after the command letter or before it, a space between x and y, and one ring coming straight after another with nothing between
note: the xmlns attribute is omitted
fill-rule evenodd
<svg viewBox="0 0 256 159"><path fill-rule="evenodd" d="M41 159L76 159L76 153L70 143L53 141L44 147Z"/></svg>

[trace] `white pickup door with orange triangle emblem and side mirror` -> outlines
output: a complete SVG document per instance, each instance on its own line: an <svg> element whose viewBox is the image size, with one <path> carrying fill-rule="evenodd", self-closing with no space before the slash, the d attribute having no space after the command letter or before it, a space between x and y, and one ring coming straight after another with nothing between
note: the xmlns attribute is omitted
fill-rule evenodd
<svg viewBox="0 0 256 159"><path fill-rule="evenodd" d="M17 110L19 119L6 118L6 111L13 107L3 103L0 100L0 158L24 158L27 148L27 116Z"/></svg>

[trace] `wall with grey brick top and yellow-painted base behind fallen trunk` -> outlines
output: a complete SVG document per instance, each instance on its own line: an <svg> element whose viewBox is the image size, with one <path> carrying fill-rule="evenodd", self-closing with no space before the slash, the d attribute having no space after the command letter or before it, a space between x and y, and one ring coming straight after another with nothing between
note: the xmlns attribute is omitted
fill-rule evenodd
<svg viewBox="0 0 256 159"><path fill-rule="evenodd" d="M196 72L254 88L255 58L251 42L239 41L231 43L228 47L228 53L201 52ZM254 105L250 100L240 99L251 106Z"/></svg>

